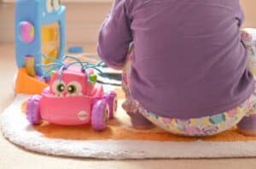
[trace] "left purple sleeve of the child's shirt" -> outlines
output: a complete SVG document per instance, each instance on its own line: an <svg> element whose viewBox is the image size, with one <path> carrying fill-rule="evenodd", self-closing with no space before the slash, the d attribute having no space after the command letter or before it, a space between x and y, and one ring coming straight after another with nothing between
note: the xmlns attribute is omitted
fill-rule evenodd
<svg viewBox="0 0 256 169"><path fill-rule="evenodd" d="M110 67L121 69L125 64L131 36L131 21L127 16L125 0L116 0L103 22L97 51L101 59Z"/></svg>

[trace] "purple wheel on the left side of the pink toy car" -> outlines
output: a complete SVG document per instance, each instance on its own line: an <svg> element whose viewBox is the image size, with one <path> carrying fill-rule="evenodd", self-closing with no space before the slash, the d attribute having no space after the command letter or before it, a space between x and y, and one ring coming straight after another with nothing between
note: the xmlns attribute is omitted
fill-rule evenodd
<svg viewBox="0 0 256 169"><path fill-rule="evenodd" d="M26 119L32 125L39 125L42 122L40 115L40 95L33 95L26 104Z"/></svg>

